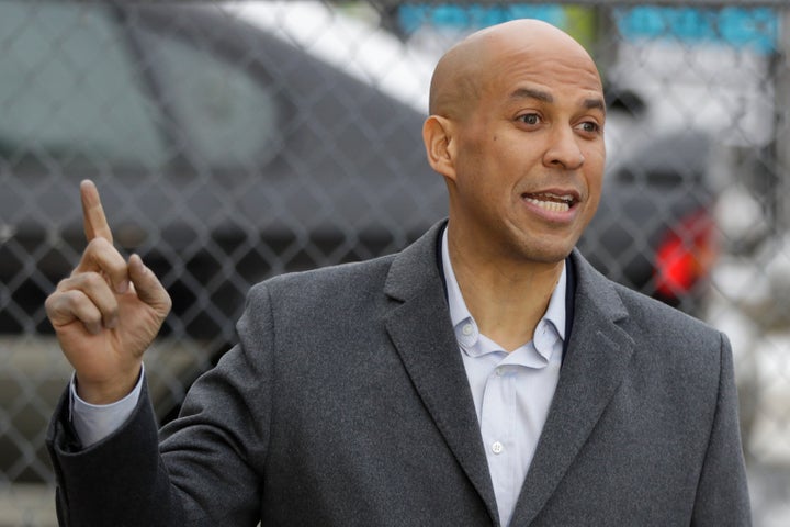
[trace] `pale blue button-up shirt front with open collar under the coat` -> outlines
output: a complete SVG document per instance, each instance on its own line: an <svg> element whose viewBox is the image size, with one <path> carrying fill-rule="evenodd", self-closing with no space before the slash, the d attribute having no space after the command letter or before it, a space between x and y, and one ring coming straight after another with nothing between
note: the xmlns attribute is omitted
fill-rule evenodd
<svg viewBox="0 0 790 527"><path fill-rule="evenodd" d="M508 354L479 333L466 309L450 261L447 229L442 238L442 265L450 318L477 411L499 519L506 526L516 508L560 381L566 270L563 266L532 340Z"/></svg>

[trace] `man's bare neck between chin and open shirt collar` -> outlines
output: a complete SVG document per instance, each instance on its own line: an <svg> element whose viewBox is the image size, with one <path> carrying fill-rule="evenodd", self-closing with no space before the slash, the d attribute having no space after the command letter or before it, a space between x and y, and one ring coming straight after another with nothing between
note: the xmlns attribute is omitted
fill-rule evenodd
<svg viewBox="0 0 790 527"><path fill-rule="evenodd" d="M449 242L450 261L466 307L482 334L506 351L532 340L564 261L499 261Z"/></svg>

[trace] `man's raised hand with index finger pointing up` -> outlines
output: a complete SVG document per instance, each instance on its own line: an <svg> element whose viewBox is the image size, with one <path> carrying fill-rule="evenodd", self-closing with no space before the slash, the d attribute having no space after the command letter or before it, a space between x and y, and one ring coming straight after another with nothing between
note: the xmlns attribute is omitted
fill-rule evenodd
<svg viewBox="0 0 790 527"><path fill-rule="evenodd" d="M113 246L93 182L82 181L80 194L88 246L45 305L60 348L77 372L80 397L106 404L136 384L143 354L172 303L139 256L126 261Z"/></svg>

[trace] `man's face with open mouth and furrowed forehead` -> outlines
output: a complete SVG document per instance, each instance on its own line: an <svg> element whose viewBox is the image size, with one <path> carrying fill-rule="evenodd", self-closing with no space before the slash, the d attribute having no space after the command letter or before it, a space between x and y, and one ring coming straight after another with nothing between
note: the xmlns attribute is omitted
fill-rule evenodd
<svg viewBox="0 0 790 527"><path fill-rule="evenodd" d="M554 264L600 199L600 79L579 53L514 46L497 57L476 104L454 121L451 228L492 256Z"/></svg>

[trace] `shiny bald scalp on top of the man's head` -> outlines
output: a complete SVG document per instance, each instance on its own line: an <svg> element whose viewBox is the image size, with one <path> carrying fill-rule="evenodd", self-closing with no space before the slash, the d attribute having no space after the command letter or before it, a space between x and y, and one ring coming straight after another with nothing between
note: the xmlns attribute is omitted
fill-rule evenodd
<svg viewBox="0 0 790 527"><path fill-rule="evenodd" d="M429 113L461 119L479 100L499 60L514 53L578 57L596 70L587 51L557 27L539 20L505 22L473 33L439 60L431 79Z"/></svg>

